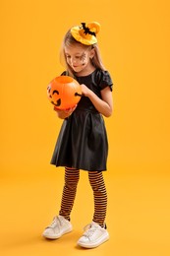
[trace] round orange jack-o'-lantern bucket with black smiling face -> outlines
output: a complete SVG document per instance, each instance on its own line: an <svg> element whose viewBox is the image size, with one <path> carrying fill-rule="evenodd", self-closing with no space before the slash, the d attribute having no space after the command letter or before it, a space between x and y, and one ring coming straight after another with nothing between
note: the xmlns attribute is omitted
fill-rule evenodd
<svg viewBox="0 0 170 256"><path fill-rule="evenodd" d="M81 99L80 84L69 76L60 76L51 81L47 87L47 96L58 109L74 107Z"/></svg>

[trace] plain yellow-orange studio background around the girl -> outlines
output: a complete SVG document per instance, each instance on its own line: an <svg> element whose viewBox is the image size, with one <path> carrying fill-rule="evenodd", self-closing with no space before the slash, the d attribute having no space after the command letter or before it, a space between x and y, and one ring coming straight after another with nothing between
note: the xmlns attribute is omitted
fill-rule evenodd
<svg viewBox="0 0 170 256"><path fill-rule="evenodd" d="M169 255L170 4L168 0L0 1L1 255ZM46 97L62 71L67 30L97 21L103 62L114 81L109 137L110 240L76 247L91 221L86 172L72 214L74 232L45 241L58 213L64 171L49 164L62 121Z"/></svg>

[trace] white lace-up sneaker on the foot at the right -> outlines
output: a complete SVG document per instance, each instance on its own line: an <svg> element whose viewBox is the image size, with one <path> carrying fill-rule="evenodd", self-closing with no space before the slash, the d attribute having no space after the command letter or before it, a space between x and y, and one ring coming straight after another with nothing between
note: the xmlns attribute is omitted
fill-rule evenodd
<svg viewBox="0 0 170 256"><path fill-rule="evenodd" d="M87 229L86 229L87 228ZM78 245L85 248L94 248L109 239L108 231L99 224L92 222L85 226L85 233L79 239Z"/></svg>

